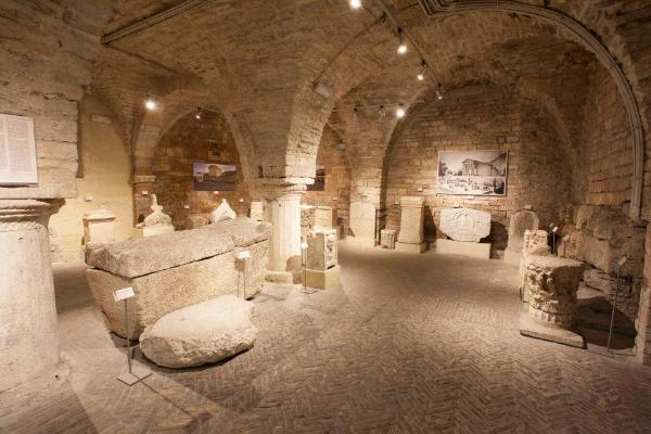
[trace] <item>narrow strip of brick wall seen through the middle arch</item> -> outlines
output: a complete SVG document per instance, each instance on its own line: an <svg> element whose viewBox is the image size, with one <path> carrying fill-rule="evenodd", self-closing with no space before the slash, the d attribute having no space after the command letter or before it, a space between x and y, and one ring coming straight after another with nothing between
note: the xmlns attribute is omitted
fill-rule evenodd
<svg viewBox="0 0 651 434"><path fill-rule="evenodd" d="M345 234L348 231L350 207L350 169L346 162L346 151L337 148L341 142L336 132L327 126L317 154L317 165L326 166L326 191L307 191L303 202L335 208Z"/></svg>

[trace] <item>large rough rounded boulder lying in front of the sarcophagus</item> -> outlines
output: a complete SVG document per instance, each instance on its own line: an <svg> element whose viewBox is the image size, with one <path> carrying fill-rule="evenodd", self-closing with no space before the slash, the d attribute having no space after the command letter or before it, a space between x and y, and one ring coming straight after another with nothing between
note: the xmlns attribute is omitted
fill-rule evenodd
<svg viewBox="0 0 651 434"><path fill-rule="evenodd" d="M253 347L253 304L232 295L173 311L140 335L140 349L167 368L212 363Z"/></svg>

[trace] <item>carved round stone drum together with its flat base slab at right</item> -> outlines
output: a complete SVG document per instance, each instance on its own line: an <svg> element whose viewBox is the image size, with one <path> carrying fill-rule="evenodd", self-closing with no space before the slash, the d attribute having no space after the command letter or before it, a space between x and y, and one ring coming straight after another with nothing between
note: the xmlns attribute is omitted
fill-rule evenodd
<svg viewBox="0 0 651 434"><path fill-rule="evenodd" d="M531 299L520 333L583 347L583 337L571 330L583 271L578 260L531 256L525 271Z"/></svg>

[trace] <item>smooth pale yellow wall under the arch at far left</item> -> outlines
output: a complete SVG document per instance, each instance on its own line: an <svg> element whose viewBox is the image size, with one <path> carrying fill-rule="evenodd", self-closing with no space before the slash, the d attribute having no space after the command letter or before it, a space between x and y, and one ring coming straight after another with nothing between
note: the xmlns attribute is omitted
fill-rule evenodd
<svg viewBox="0 0 651 434"><path fill-rule="evenodd" d="M119 125L98 98L86 95L79 129L82 170L77 178L78 195L67 199L50 219L53 261L84 258L82 217L90 210L105 207L115 213L117 241L128 239L132 230L131 166Z"/></svg>

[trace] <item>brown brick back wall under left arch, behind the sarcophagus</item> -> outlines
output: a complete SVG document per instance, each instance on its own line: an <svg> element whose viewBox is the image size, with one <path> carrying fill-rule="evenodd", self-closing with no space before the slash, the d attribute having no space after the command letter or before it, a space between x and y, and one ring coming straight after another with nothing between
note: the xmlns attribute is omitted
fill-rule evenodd
<svg viewBox="0 0 651 434"><path fill-rule="evenodd" d="M191 112L161 139L154 159L154 192L174 226L186 228L190 214L210 213L226 199L238 215L248 215L250 192L244 188L242 166L228 122L224 115L204 111L201 120ZM192 163L235 164L237 190L194 191ZM240 200L243 200L240 202ZM188 205L189 208L184 206Z"/></svg>

